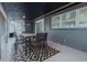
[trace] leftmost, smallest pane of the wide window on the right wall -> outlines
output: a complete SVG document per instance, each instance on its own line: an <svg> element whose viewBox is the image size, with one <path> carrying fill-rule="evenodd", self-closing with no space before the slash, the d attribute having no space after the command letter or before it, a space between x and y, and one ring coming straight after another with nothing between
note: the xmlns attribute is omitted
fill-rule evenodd
<svg viewBox="0 0 87 65"><path fill-rule="evenodd" d="M61 22L61 17L59 15L52 17L52 29L59 28L59 22Z"/></svg>

